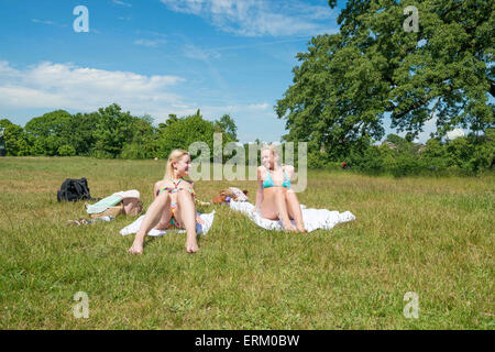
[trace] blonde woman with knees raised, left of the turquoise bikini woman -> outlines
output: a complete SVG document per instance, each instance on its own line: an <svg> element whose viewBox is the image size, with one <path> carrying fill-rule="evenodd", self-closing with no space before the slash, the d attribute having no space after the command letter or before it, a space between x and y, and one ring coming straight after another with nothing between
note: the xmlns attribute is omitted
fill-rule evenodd
<svg viewBox="0 0 495 352"><path fill-rule="evenodd" d="M196 241L196 206L193 182L183 177L189 174L190 155L186 151L175 150L167 161L164 179L155 184L153 194L155 200L141 222L135 234L134 243L129 253L143 253L144 238L151 229L186 229L186 250L195 253L198 249Z"/></svg>

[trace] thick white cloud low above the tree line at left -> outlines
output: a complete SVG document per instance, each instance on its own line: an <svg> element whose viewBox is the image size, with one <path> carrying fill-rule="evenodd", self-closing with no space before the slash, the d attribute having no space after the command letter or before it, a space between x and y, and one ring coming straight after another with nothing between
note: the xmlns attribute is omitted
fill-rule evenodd
<svg viewBox="0 0 495 352"><path fill-rule="evenodd" d="M41 63L20 70L0 62L0 108L95 111L118 102L134 113L160 116L183 101L172 87L184 80L72 64Z"/></svg>

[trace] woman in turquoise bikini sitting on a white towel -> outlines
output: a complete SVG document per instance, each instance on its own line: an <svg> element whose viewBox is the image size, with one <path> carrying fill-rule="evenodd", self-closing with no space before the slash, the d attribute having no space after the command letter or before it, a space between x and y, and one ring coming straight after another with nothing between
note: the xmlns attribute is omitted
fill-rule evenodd
<svg viewBox="0 0 495 352"><path fill-rule="evenodd" d="M279 165L279 155L273 145L262 148L262 166L257 168L256 210L263 218L280 219L286 231L307 232L296 193L290 189L294 166ZM296 228L290 220L295 220Z"/></svg>

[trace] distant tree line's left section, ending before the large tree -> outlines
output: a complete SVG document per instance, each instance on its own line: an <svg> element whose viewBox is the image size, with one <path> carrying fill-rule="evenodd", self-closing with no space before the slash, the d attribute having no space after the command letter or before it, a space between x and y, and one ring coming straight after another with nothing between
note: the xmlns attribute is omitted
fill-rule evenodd
<svg viewBox="0 0 495 352"><path fill-rule="evenodd" d="M94 156L100 158L166 158L174 148L188 150L196 141L213 147L213 133L223 133L222 143L238 141L234 120L223 114L205 120L195 114L169 114L165 123L153 125L150 116L134 117L113 103L91 113L70 114L56 110L31 119L24 128L8 119L4 129L7 155Z"/></svg>

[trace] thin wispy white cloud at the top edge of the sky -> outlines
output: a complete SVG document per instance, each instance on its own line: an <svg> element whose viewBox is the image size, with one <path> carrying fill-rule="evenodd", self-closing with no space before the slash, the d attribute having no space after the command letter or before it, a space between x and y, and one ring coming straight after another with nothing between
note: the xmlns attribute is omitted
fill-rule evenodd
<svg viewBox="0 0 495 352"><path fill-rule="evenodd" d="M242 36L320 34L330 30L334 18L328 6L300 0L161 1L172 11L201 16L221 31Z"/></svg>

